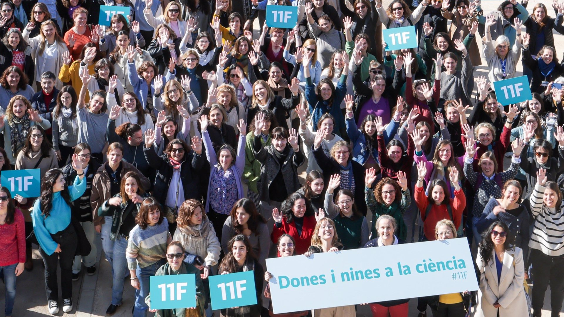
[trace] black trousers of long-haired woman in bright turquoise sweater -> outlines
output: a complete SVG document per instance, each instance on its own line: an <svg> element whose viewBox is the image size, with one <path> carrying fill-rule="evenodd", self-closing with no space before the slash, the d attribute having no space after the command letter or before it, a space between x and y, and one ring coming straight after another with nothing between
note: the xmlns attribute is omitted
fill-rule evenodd
<svg viewBox="0 0 564 317"><path fill-rule="evenodd" d="M72 263L76 246L78 244L74 227L69 224L63 231L51 234L51 238L60 244L61 252L51 255L39 248L39 253L45 263L45 293L47 300L59 300L59 288L57 285L57 263L61 267L61 292L63 299L72 298Z"/></svg>

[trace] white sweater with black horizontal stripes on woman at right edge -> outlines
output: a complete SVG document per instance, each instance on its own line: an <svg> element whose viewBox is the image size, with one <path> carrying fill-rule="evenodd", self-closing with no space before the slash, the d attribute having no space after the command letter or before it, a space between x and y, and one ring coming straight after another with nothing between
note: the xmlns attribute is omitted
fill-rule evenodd
<svg viewBox="0 0 564 317"><path fill-rule="evenodd" d="M564 206L549 208L543 204L544 186L536 183L531 195L531 212L535 217L529 248L537 249L547 256L564 254Z"/></svg>

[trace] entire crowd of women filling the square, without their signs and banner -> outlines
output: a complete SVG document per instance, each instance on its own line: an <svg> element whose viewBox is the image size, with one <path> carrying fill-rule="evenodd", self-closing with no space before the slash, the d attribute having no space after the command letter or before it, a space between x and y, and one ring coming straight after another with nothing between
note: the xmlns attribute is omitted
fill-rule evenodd
<svg viewBox="0 0 564 317"><path fill-rule="evenodd" d="M0 187L6 316L24 303L16 276L40 269L34 244L51 314L73 310L98 245L108 316L130 283L135 317L210 317L208 277L253 271L257 304L222 316L348 317L275 315L265 259L462 236L478 292L409 315L540 316L550 285L558 316L564 2L498 2L2 2L0 170L41 171L39 197ZM98 25L100 5L130 14ZM296 6L296 27L269 28L266 5ZM415 26L418 47L387 50L382 25ZM502 105L493 85L519 61L532 97ZM151 309L151 276L188 273L195 307ZM408 301L369 306L407 317Z"/></svg>

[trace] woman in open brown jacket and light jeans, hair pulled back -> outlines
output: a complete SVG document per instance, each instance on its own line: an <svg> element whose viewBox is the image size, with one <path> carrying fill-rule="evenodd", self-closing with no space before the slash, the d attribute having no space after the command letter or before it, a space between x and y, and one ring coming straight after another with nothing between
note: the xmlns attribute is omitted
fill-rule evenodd
<svg viewBox="0 0 564 317"><path fill-rule="evenodd" d="M135 166L129 162L122 160L124 156L124 147L117 142L108 146L106 151L108 161L96 170L94 178L92 178L92 192L90 195L90 204L94 211L94 218L92 223L96 232L101 234L102 249L104 250L105 258L112 265L113 258L113 240L110 239L110 231L112 228L112 217L100 217L96 212L103 202L111 199L120 193L121 180L127 173L136 173L140 175L139 186L143 190L149 190L151 183L149 179L144 177Z"/></svg>

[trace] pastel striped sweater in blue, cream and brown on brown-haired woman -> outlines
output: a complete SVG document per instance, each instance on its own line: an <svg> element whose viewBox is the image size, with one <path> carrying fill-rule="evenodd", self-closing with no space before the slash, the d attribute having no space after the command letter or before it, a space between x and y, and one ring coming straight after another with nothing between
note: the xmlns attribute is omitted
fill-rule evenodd
<svg viewBox="0 0 564 317"><path fill-rule="evenodd" d="M137 266L147 267L166 256L166 245L172 241L169 223L163 219L161 224L142 229L136 224L129 233L129 242L125 251L127 268L135 270Z"/></svg>

